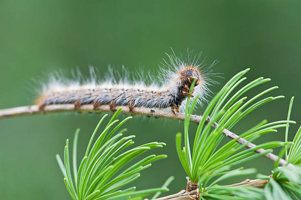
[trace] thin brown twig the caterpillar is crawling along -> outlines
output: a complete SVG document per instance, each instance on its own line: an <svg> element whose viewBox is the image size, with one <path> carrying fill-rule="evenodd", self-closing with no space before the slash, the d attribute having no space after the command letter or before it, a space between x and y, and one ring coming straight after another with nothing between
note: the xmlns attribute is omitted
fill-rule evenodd
<svg viewBox="0 0 301 200"><path fill-rule="evenodd" d="M149 108L143 108L143 107L133 108L132 111L129 110L128 106L118 106L118 107L115 107L115 109L117 110L120 107L122 108L121 113L124 113L124 114L153 116L155 118L178 119L181 121L184 121L184 118L185 118L185 114L183 114L183 113L178 113L177 115L175 115L169 111L162 111L162 110L149 109ZM99 107L97 107L96 110L93 109L93 105L82 105L77 109L75 109L75 106L73 104L49 105L49 106L45 106L43 110L39 110L37 105L32 105L32 106L21 106L21 107L0 110L0 119L13 117L13 116L21 116L21 115L62 113L62 112L77 112L77 113L111 112L111 113L113 113L115 111L113 111L109 105L99 106ZM199 123L202 120L202 118L203 118L202 115L191 115L190 121L194 122L194 123ZM208 123L210 120L211 120L211 117L208 117L206 120L206 123ZM218 124L214 122L212 127L216 128L217 126L218 126ZM236 135L235 133L232 133L231 131L229 131L227 129L224 129L222 134L232 140L239 138L238 135ZM238 139L236 142L240 143L242 145L245 145L246 148L256 147L256 144L250 143L243 138ZM266 152L266 150L263 148L260 148L260 149L255 150L255 152L256 153L264 153L264 152ZM278 156L276 156L272 153L265 154L265 157L270 159L273 162L278 160ZM283 166L286 164L287 164L287 162L280 158L279 165Z"/></svg>

